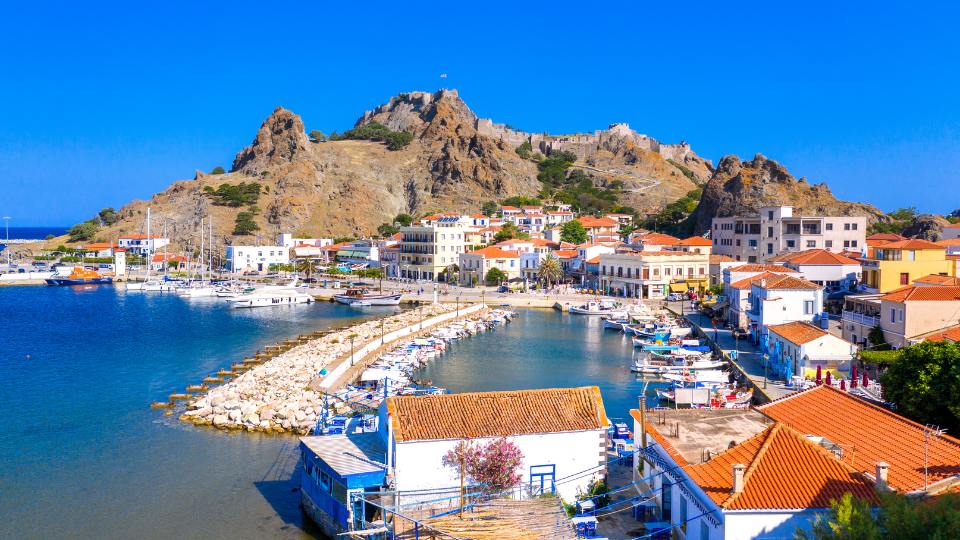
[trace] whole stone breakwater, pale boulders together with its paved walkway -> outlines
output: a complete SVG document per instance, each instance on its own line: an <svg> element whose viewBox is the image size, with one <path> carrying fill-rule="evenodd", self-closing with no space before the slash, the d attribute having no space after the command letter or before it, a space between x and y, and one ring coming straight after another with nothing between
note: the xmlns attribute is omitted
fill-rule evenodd
<svg viewBox="0 0 960 540"><path fill-rule="evenodd" d="M457 319L477 319L486 311L484 304L425 305L300 336L189 386L187 393L172 395L171 403L185 401L180 419L195 425L307 434L328 414L328 394L359 378L364 366L377 361L391 344Z"/></svg>

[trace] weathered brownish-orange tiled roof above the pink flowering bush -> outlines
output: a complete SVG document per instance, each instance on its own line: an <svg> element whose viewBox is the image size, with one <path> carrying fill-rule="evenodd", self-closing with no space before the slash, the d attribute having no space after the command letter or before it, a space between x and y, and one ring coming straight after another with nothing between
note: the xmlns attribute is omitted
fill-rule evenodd
<svg viewBox="0 0 960 540"><path fill-rule="evenodd" d="M397 441L506 437L603 429L600 389L546 388L387 398Z"/></svg>

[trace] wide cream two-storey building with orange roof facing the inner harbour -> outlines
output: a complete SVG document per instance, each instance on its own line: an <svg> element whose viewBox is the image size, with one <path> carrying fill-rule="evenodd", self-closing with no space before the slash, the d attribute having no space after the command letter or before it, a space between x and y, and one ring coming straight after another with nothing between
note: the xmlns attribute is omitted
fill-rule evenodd
<svg viewBox="0 0 960 540"><path fill-rule="evenodd" d="M710 256L685 251L631 251L600 255L600 287L608 294L663 298L671 289L702 288Z"/></svg>

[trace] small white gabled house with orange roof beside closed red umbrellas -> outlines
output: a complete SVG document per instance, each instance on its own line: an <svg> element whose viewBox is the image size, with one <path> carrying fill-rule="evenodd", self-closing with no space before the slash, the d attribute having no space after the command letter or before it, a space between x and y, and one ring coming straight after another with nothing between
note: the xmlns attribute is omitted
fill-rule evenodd
<svg viewBox="0 0 960 540"><path fill-rule="evenodd" d="M770 375L790 380L812 379L817 368L850 376L850 362L857 346L826 330L806 322L791 322L769 327Z"/></svg>

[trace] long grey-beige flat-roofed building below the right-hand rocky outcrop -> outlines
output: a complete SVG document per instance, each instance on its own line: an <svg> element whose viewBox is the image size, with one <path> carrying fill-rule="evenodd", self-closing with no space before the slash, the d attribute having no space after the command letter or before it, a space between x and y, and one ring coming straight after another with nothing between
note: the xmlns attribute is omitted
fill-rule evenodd
<svg viewBox="0 0 960 540"><path fill-rule="evenodd" d="M713 252L738 261L759 262L807 249L861 251L867 218L799 216L792 206L765 206L757 216L713 218Z"/></svg>

